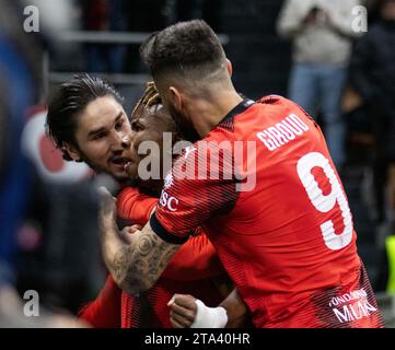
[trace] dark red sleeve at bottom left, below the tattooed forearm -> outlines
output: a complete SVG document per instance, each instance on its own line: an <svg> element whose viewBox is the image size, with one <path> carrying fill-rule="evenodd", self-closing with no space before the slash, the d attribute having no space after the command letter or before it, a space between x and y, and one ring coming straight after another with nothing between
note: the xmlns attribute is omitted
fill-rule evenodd
<svg viewBox="0 0 395 350"><path fill-rule="evenodd" d="M120 328L120 294L121 290L108 276L98 296L80 310L79 317L94 328Z"/></svg>

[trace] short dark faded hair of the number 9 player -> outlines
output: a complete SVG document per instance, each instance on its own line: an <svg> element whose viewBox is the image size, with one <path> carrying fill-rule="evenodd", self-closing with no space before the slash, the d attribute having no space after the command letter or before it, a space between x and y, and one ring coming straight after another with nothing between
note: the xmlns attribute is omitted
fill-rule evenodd
<svg viewBox="0 0 395 350"><path fill-rule="evenodd" d="M155 79L166 73L205 78L219 69L225 55L212 28L202 20L178 22L153 33L140 47L140 56Z"/></svg>

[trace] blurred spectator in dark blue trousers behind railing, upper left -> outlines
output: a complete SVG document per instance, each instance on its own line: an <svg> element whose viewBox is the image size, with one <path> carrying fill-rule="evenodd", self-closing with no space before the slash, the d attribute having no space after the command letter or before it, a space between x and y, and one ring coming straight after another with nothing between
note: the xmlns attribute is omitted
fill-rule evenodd
<svg viewBox="0 0 395 350"><path fill-rule="evenodd" d="M123 0L84 0L82 5L85 31L125 31ZM117 44L86 44L86 69L90 72L120 73L124 70L125 47Z"/></svg>

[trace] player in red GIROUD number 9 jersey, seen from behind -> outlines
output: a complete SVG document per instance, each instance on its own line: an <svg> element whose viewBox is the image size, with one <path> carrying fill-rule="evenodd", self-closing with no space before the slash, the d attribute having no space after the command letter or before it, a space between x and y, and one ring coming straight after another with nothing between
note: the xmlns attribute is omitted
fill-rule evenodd
<svg viewBox="0 0 395 350"><path fill-rule="evenodd" d="M113 252L106 264L117 283L131 293L151 288L201 226L254 326L383 327L347 197L314 120L281 96L241 96L232 66L204 21L154 33L141 54L164 106L199 140L195 152L175 161L173 182L162 190L177 206L160 201L127 245L114 225L115 202L102 195L102 235ZM236 156L237 144L247 156ZM200 163L207 170L219 165L219 176L200 176ZM183 176L188 167L193 176ZM255 186L247 187L248 178Z"/></svg>

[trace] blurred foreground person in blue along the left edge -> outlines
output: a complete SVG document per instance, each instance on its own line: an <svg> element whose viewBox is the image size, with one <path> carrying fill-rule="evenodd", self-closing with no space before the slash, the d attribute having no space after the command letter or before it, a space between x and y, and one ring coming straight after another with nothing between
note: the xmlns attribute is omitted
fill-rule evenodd
<svg viewBox="0 0 395 350"><path fill-rule="evenodd" d="M32 174L20 140L25 112L38 97L42 42L23 32L19 1L0 0L0 125L1 136L5 136L0 142L0 327L82 326L74 317L42 308L39 317L26 317L25 305L13 287L18 277L16 236ZM36 299L37 307L38 302Z"/></svg>

